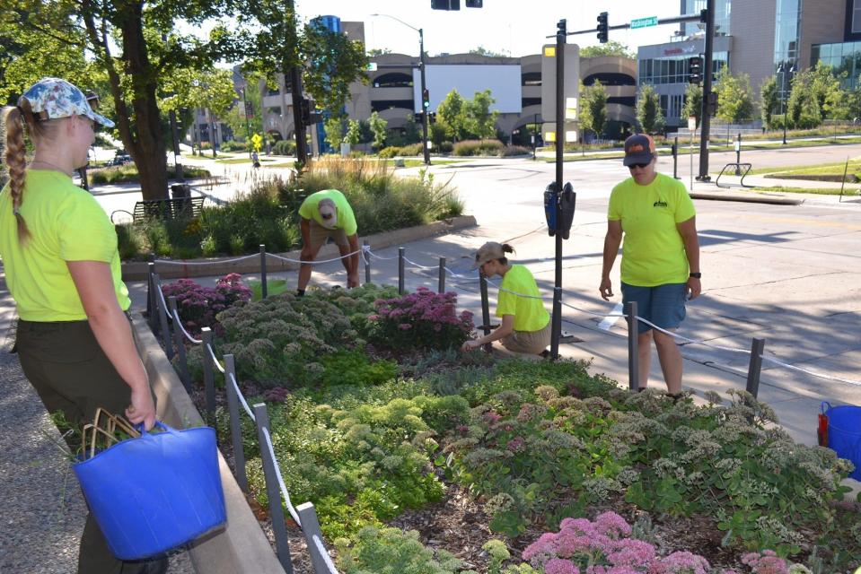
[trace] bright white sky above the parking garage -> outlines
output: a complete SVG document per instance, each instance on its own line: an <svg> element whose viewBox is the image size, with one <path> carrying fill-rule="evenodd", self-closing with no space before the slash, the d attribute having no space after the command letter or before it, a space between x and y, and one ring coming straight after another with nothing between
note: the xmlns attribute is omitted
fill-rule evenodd
<svg viewBox="0 0 861 574"><path fill-rule="evenodd" d="M484 0L483 8L431 10L431 0L295 0L296 11L303 21L319 15L338 16L342 21L365 22L365 46L388 48L401 54L418 54L418 34L400 22L373 13L400 18L414 28L423 28L425 49L431 56L441 52L457 54L479 46L510 54L512 57L540 53L545 39L556 33L556 24L567 19L568 30L594 29L598 13L609 13L611 26L635 18L680 15L679 0ZM634 52L637 46L669 41L678 24L667 24L639 30L611 30L610 39L627 44ZM568 37L569 43L581 47L598 44L595 33Z"/></svg>

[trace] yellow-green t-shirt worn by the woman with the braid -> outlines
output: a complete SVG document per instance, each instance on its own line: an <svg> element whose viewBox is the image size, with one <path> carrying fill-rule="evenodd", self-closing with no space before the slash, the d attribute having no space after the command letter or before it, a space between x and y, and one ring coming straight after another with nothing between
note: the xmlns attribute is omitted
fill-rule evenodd
<svg viewBox="0 0 861 574"><path fill-rule="evenodd" d="M39 322L87 318L67 261L110 264L119 307L128 309L117 232L95 198L58 171L27 170L21 214L30 230L23 242L7 184L0 191L0 257L19 317Z"/></svg>

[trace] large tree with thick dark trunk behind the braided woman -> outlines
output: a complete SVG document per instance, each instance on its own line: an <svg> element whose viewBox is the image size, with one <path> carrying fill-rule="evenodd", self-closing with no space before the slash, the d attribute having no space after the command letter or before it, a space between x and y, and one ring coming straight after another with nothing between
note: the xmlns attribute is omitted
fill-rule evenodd
<svg viewBox="0 0 861 574"><path fill-rule="evenodd" d="M167 197L167 157L159 87L183 67L202 67L218 56L218 34L208 42L181 36L174 22L199 24L226 12L220 0L4 0L4 28L32 35L22 58L39 59L46 43L87 54L106 75L117 133L135 161L144 199ZM63 52L57 49L57 53ZM34 58L31 58L34 56Z"/></svg>

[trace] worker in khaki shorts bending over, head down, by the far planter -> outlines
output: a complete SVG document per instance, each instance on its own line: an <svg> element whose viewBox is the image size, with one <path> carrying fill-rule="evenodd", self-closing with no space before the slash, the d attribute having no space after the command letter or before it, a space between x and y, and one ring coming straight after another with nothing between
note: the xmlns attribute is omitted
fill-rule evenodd
<svg viewBox="0 0 861 574"><path fill-rule="evenodd" d="M308 196L299 207L299 230L302 232L303 262L311 262L320 248L331 238L338 246L341 263L347 270L347 289L359 286L359 238L356 234L356 216L347 203L347 197L337 189L324 189ZM311 263L299 266L299 285L296 294L302 297L311 281Z"/></svg>

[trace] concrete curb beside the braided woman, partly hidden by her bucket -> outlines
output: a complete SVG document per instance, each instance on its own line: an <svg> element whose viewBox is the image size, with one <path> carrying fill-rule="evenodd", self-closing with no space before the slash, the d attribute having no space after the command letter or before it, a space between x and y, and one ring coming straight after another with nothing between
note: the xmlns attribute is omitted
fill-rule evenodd
<svg viewBox="0 0 861 574"><path fill-rule="evenodd" d="M205 426L144 317L134 313L132 323L137 350L158 401L159 420L175 429ZM195 571L200 574L284 574L220 450L218 466L224 488L227 527L191 545L189 556Z"/></svg>

